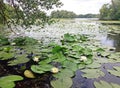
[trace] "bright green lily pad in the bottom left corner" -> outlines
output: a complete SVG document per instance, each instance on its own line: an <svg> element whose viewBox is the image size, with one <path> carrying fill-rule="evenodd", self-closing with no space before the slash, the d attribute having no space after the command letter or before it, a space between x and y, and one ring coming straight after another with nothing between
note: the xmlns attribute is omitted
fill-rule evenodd
<svg viewBox="0 0 120 88"><path fill-rule="evenodd" d="M18 75L0 77L0 88L14 88L15 87L14 81L20 80L23 80L23 78Z"/></svg>

